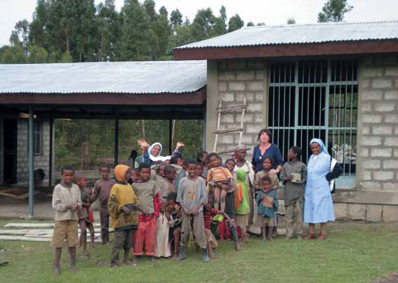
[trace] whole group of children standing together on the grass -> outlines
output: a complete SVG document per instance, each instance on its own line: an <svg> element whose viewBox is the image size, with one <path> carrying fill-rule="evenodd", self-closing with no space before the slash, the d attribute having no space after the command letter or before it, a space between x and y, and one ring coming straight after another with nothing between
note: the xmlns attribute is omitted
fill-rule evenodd
<svg viewBox="0 0 398 283"><path fill-rule="evenodd" d="M306 178L305 164L299 161L301 150L292 147L289 162L284 164L280 179L285 186L287 232L293 236L297 225L298 237L303 232L303 190ZM254 190L258 224L264 239L273 239L272 230L277 225L279 178L270 173L272 162L265 158L263 171L256 174ZM248 221L239 221L239 212L246 199L251 197L242 169L235 168L234 159L223 164L215 153L199 152L197 161L185 160L179 154L165 162L139 164L131 169L119 164L110 178L110 167L100 166L100 180L93 190L86 188L86 177L71 166L61 169L62 180L53 192L55 228L51 245L55 247L55 273L60 272L60 254L67 242L71 258L71 271L76 270L76 247L86 249L86 229L91 233L94 246L93 213L91 203L100 197L100 223L102 244L108 245L109 224L114 229L111 266L121 263L135 265L135 259L144 254L156 258L173 258L182 261L192 239L202 251L202 261L213 258L218 246L215 236L225 238L225 228L239 251L246 242ZM246 190L242 190L246 188ZM242 193L243 192L243 193ZM245 195L246 194L246 195ZM238 207L239 206L239 207ZM247 211L247 209L244 209ZM236 222L235 222L236 221ZM78 223L81 236L78 239ZM240 239L239 239L240 234ZM119 253L124 249L123 261ZM133 249L133 261L130 261Z"/></svg>

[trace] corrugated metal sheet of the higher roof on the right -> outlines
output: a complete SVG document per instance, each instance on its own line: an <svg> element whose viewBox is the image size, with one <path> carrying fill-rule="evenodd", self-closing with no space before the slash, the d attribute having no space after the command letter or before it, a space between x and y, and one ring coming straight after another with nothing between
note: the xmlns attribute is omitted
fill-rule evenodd
<svg viewBox="0 0 398 283"><path fill-rule="evenodd" d="M398 39L398 20L386 22L326 22L308 25L243 27L219 37L176 49L262 46L274 44L321 44L337 41Z"/></svg>

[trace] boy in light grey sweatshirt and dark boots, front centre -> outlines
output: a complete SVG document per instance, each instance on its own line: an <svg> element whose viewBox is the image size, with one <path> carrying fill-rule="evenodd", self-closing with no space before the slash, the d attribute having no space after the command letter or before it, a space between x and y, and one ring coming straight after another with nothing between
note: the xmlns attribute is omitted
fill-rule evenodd
<svg viewBox="0 0 398 283"><path fill-rule="evenodd" d="M185 246L190 239L191 218L196 244L202 249L202 262L207 263L207 243L204 233L203 204L206 202L206 185L204 179L197 176L197 162L187 162L188 176L180 180L177 202L183 209L183 223L181 228L181 242L178 248L178 261L186 258Z"/></svg>

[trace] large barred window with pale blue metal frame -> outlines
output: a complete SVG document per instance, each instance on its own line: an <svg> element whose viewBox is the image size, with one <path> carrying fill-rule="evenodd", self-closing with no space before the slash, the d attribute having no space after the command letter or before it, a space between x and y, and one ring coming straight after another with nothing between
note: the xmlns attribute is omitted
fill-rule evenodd
<svg viewBox="0 0 398 283"><path fill-rule="evenodd" d="M303 60L270 64L268 125L286 159L288 149L303 149L321 138L329 153L354 176L357 148L357 62Z"/></svg>

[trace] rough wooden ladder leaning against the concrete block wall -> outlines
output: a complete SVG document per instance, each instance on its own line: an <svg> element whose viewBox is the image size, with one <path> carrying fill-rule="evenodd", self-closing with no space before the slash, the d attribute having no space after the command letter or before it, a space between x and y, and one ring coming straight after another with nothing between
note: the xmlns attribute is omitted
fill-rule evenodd
<svg viewBox="0 0 398 283"><path fill-rule="evenodd" d="M239 132L239 145L242 143L242 137L243 137L243 132L244 132L244 114L246 113L246 96L244 97L244 103L241 105L230 105L227 107L223 107L223 100L220 100L218 103L217 107L217 129L213 131L212 133L215 133L215 140L214 140L214 150L213 152L217 152L217 144L218 144L218 135L220 133L236 133ZM241 110L241 125L239 128L233 128L233 129L220 129L220 120L221 120L221 114L227 113L227 112L235 112L237 110ZM223 154L223 153L230 153L234 152L235 150L224 150L221 152L217 152L217 154Z"/></svg>

